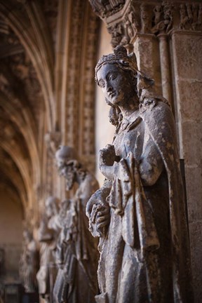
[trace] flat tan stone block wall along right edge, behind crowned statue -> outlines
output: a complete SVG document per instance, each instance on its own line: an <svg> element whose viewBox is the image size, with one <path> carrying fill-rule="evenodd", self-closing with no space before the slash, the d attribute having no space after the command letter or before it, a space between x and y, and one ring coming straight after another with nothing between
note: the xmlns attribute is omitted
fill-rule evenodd
<svg viewBox="0 0 202 303"><path fill-rule="evenodd" d="M202 257L202 34L173 32L172 52L180 157L184 159L192 273L201 302Z"/></svg>

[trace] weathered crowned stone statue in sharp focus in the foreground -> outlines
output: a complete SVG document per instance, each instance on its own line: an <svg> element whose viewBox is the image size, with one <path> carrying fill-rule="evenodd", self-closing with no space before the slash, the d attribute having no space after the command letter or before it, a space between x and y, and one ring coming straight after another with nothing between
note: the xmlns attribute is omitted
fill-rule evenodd
<svg viewBox="0 0 202 303"><path fill-rule="evenodd" d="M86 207L100 236L96 302L194 302L170 106L123 46L100 59L95 80L116 126L113 144L100 150L105 183Z"/></svg>

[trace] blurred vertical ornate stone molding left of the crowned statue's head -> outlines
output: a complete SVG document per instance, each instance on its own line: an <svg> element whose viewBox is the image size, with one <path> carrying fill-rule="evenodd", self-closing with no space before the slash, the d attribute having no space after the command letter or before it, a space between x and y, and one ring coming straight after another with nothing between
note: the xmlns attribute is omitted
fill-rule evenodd
<svg viewBox="0 0 202 303"><path fill-rule="evenodd" d="M62 25L67 25L67 32L63 35L65 40L63 36L59 36L57 44L58 48L63 50L62 55L58 53L56 58L59 78L62 75L61 82L56 83L58 126L62 144L74 147L83 158L91 157L94 165L94 68L100 20L93 13L88 1L72 0L67 5L68 7L62 7L66 13L60 12L59 24L62 31Z"/></svg>

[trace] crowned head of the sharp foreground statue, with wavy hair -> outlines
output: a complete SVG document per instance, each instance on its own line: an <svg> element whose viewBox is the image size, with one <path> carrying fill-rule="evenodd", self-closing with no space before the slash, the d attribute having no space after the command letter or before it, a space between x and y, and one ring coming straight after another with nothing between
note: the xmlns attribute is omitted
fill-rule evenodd
<svg viewBox="0 0 202 303"><path fill-rule="evenodd" d="M97 62L95 81L112 107L119 107L131 97L139 105L142 90L154 85L152 79L137 69L135 53L128 55L123 46L116 46L114 53L104 55Z"/></svg>

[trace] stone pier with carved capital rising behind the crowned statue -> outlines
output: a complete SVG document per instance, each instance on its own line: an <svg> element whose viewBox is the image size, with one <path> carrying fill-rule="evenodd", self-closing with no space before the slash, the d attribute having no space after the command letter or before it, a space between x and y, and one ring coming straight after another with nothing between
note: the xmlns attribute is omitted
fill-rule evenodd
<svg viewBox="0 0 202 303"><path fill-rule="evenodd" d="M112 46L122 44L128 52L134 48L138 67L154 78L159 93L170 101L175 112L180 158L184 159L185 166L195 300L201 302L201 271L198 269L201 242L198 237L202 224L202 196L198 184L202 181L202 3L126 0L119 11L106 6L103 13L100 2L104 5L104 1L90 0L95 13L107 25ZM129 18L131 11L134 19ZM130 25L128 19L133 20Z"/></svg>

